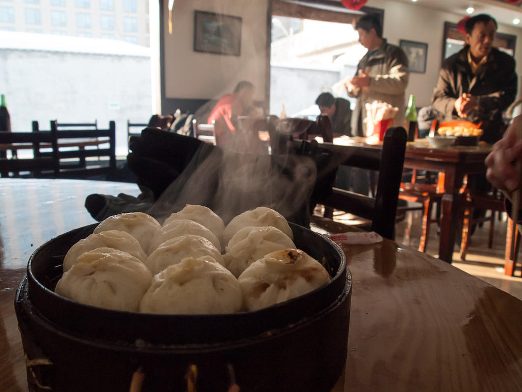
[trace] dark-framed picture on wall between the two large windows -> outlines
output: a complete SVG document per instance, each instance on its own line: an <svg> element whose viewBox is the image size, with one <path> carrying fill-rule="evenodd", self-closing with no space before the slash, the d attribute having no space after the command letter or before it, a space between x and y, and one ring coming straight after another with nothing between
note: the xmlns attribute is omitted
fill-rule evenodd
<svg viewBox="0 0 522 392"><path fill-rule="evenodd" d="M194 51L239 56L241 24L238 16L195 11Z"/></svg>

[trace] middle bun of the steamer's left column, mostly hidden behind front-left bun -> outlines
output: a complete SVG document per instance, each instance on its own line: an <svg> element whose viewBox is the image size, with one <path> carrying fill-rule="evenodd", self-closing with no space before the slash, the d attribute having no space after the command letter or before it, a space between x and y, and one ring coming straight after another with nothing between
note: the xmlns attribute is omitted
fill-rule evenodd
<svg viewBox="0 0 522 392"><path fill-rule="evenodd" d="M77 258L84 252L96 248L113 248L130 253L140 261L147 260L147 254L141 249L141 245L132 235L121 230L106 230L105 232L91 234L87 238L80 239L67 251L64 258L64 272L70 270Z"/></svg>

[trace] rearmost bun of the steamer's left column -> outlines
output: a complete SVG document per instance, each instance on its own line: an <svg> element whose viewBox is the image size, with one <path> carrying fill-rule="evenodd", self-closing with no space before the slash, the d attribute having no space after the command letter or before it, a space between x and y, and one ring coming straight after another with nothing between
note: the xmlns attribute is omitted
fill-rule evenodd
<svg viewBox="0 0 522 392"><path fill-rule="evenodd" d="M127 212L109 216L96 228L94 234L105 232L106 230L121 230L136 238L141 248L148 252L152 236L159 231L161 225L152 216L143 212Z"/></svg>

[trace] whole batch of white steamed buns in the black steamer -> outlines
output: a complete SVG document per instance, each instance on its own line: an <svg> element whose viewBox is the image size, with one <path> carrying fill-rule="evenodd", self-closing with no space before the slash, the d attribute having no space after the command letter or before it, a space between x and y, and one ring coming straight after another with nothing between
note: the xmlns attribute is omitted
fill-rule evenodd
<svg viewBox="0 0 522 392"><path fill-rule="evenodd" d="M212 223L186 219L198 214ZM294 249L292 231L276 211L246 211L221 234L216 216L187 205L163 226L144 213L107 218L69 250L56 293L130 312L220 314L268 307L330 280L321 263ZM224 256L218 236L230 236Z"/></svg>

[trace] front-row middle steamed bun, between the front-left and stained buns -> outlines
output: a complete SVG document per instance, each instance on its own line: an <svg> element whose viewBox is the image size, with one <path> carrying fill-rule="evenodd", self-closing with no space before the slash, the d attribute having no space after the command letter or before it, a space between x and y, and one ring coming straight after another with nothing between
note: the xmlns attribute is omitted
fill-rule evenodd
<svg viewBox="0 0 522 392"><path fill-rule="evenodd" d="M224 314L242 309L238 280L211 257L185 258L154 276L140 312Z"/></svg>

